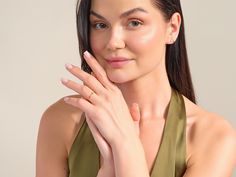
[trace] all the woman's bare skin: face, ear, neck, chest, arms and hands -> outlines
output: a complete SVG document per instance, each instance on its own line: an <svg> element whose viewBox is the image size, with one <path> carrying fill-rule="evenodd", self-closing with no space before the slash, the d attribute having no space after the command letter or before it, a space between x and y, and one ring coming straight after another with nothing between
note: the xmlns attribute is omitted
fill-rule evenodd
<svg viewBox="0 0 236 177"><path fill-rule="evenodd" d="M132 11L137 7L145 11ZM66 65L83 84L63 79L63 85L78 95L59 100L43 114L36 176L68 176L68 154L85 112L102 154L98 176L148 177L171 96L165 46L178 36L180 15L175 13L166 21L149 0L93 0L91 10L94 56L85 53L84 58L93 74ZM113 68L105 60L114 56L132 61ZM187 114L184 176L229 177L236 165L235 130L224 118L205 111L186 97L184 101Z"/></svg>

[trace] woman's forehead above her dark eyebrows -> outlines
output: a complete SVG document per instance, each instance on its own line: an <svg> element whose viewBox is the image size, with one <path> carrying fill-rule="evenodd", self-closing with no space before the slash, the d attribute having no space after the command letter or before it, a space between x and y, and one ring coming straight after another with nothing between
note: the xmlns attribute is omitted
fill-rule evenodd
<svg viewBox="0 0 236 177"><path fill-rule="evenodd" d="M91 10L100 12L123 12L132 8L141 7L146 10L156 10L152 0L91 0Z"/></svg>

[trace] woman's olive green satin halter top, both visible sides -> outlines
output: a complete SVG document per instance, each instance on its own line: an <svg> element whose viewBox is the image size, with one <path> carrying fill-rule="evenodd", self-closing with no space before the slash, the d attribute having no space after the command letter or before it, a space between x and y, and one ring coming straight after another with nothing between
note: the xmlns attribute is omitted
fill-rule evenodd
<svg viewBox="0 0 236 177"><path fill-rule="evenodd" d="M182 177L186 170L186 112L183 97L175 90L172 90L163 131L150 177ZM71 147L68 163L69 177L98 174L100 153L85 118Z"/></svg>

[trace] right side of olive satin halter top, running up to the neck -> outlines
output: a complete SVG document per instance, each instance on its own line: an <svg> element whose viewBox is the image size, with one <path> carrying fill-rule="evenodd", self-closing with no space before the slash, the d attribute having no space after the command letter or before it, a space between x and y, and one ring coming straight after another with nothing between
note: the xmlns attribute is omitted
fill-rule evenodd
<svg viewBox="0 0 236 177"><path fill-rule="evenodd" d="M151 177L182 177L186 157L186 113L182 95L172 90L162 142Z"/></svg>

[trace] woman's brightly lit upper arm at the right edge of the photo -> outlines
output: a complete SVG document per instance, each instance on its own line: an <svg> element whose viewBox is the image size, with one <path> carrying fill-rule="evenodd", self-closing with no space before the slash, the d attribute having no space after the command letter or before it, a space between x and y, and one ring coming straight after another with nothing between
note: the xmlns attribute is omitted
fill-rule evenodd
<svg viewBox="0 0 236 177"><path fill-rule="evenodd" d="M230 177L236 165L236 133L222 118L196 131L184 177Z"/></svg>

